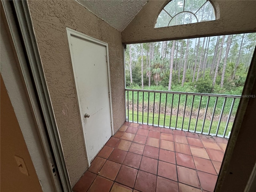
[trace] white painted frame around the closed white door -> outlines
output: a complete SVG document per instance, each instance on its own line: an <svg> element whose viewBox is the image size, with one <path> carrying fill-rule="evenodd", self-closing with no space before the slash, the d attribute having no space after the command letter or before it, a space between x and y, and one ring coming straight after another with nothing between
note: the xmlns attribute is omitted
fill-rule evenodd
<svg viewBox="0 0 256 192"><path fill-rule="evenodd" d="M90 160L88 158L88 146L86 144L86 138L85 138L85 127L84 124L82 123L82 118L83 118L83 113L82 113L82 108L81 106L81 102L80 102L80 96L78 94L78 82L76 80L76 70L75 69L75 61L74 61L74 56L73 56L73 51L72 51L72 44L71 44L71 36L80 38L82 40L86 40L88 42L92 42L101 46L106 47L106 62L107 62L107 71L108 71L108 92L109 92L109 101L110 101L110 127L111 127L111 134L113 136L114 134L114 127L113 127L113 111L112 111L112 96L111 96L111 82L110 82L110 65L109 65L109 56L108 56L108 43L100 41L98 39L92 38L88 35L85 35L83 33L77 32L75 30L72 30L70 28L66 28L67 31L67 36L68 36L68 46L69 46L69 50L70 50L70 57L71 57L71 63L72 63L72 70L73 70L73 74L74 74L74 82L75 82L75 86L76 86L76 96L77 96L77 102L78 102L78 108L79 108L79 114L80 114L80 119L81 119L81 126L82 126L82 133L84 136L84 144L85 144L85 149L86 149L86 157L87 157L87 162L88 162L88 167L90 167Z"/></svg>

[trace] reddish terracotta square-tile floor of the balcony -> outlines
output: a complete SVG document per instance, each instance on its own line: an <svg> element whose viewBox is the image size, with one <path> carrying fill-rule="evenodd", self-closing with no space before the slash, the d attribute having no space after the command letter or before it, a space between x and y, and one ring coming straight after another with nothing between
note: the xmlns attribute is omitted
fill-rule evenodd
<svg viewBox="0 0 256 192"><path fill-rule="evenodd" d="M74 192L212 192L228 140L125 122Z"/></svg>

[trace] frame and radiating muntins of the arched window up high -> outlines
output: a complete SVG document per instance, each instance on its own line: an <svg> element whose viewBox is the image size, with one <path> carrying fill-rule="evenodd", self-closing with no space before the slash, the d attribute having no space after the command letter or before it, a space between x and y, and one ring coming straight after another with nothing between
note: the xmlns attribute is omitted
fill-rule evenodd
<svg viewBox="0 0 256 192"><path fill-rule="evenodd" d="M198 23L198 22L209 22L209 21L216 20L216 18L217 18L217 16L216 16L216 8L215 8L215 6L212 4L212 2L211 2L210 0L205 0L204 4L202 4L202 5L200 6L200 8L198 8L197 11L194 12L194 13L191 12L191 11L188 11L188 10L184 10L184 9L185 9L185 2L186 2L186 0L181 0L181 1L183 1L183 7L182 7L183 10L180 11L180 12L178 12L178 13L176 13L174 16L170 15L170 13L165 9L166 6L168 6L168 4L170 4L172 1L174 1L174 0L171 0L171 1L169 1L168 3L166 3L165 6L160 10L160 12L159 12L159 14L158 14L158 17L157 17L157 19L156 19L156 23L155 23L154 28L162 28L162 27L169 27L169 26L178 26L178 25L192 24L192 23ZM202 21L200 21L200 20L198 20L198 16L196 16L196 14L197 14L198 11L200 11L200 9L201 9L207 2L209 2L210 5L212 6L212 11L213 11L213 14L214 14L214 18L211 19L211 20L202 20ZM157 25L158 18L159 18L160 14L161 14L161 12L162 12L163 10L164 10L164 12L165 12L166 14L168 14L168 15L171 17L171 19L169 20L168 25L165 25L165 26L156 26L156 25ZM194 16L194 18L196 18L196 22L190 22L190 23L183 23L183 24L170 25L170 22L171 22L177 15L182 14L182 13L189 13L189 14L192 14L192 15Z"/></svg>

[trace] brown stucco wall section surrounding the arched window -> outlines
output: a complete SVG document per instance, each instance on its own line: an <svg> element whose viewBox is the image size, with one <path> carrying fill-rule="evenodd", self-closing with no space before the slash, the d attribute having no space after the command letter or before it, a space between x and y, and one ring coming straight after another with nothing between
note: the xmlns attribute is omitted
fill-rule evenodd
<svg viewBox="0 0 256 192"><path fill-rule="evenodd" d="M166 1L150 0L122 32L123 43L172 40L206 35L255 32L255 0L212 0L217 20L154 28Z"/></svg>

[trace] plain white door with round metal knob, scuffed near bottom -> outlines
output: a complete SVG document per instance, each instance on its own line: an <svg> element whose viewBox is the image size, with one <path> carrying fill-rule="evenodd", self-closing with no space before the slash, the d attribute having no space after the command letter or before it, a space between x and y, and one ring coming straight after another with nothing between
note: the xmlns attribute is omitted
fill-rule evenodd
<svg viewBox="0 0 256 192"><path fill-rule="evenodd" d="M68 33L68 39L90 166L112 135L108 44L74 33Z"/></svg>

